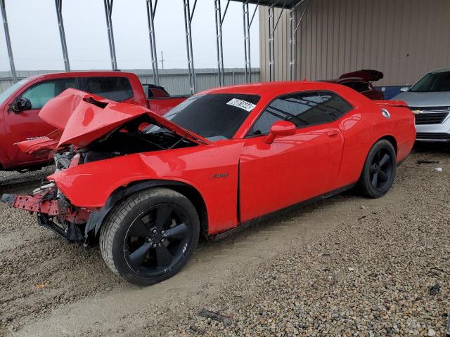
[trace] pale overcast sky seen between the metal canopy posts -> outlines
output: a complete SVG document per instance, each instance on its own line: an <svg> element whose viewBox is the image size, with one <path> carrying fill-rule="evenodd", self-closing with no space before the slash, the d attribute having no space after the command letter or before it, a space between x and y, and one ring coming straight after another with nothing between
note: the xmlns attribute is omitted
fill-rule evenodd
<svg viewBox="0 0 450 337"><path fill-rule="evenodd" d="M63 70L55 1L5 1L16 70ZM225 5L222 0L222 13ZM72 70L110 69L103 0L63 0L63 20ZM114 0L113 29L117 67L151 68L146 0ZM195 67L217 67L214 0L198 0L192 29ZM222 29L224 66L243 67L242 4L231 1ZM155 32L158 60L163 51L165 68L186 68L183 0L158 1ZM252 67L259 67L258 13L250 35ZM3 25L0 70L9 70Z"/></svg>

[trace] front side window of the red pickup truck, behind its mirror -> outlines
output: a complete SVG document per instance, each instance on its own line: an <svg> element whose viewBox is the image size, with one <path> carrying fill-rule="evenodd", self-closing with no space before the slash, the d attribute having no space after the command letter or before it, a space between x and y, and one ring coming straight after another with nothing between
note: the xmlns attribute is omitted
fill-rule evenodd
<svg viewBox="0 0 450 337"><path fill-rule="evenodd" d="M77 79L54 79L41 82L27 89L22 97L30 100L32 109L41 109L51 98L55 98L67 88L77 89Z"/></svg>

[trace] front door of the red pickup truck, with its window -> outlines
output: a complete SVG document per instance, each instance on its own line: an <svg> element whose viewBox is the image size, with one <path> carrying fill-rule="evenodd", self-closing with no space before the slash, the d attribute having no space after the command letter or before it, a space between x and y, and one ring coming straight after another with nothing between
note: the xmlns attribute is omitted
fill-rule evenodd
<svg viewBox="0 0 450 337"><path fill-rule="evenodd" d="M20 94L20 96L30 100L31 110L6 113L5 126L6 134L8 135L8 158L15 165L47 159L48 153L42 153L38 157L32 156L20 151L13 144L23 140L47 136L52 131L55 131L56 128L39 118L38 114L45 103L67 88L78 88L77 79L73 77L68 79L51 79L32 84Z"/></svg>

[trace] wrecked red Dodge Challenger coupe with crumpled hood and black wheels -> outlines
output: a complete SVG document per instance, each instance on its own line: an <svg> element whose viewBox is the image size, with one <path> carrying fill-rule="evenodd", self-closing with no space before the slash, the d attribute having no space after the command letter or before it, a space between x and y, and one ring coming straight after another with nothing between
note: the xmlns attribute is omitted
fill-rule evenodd
<svg viewBox="0 0 450 337"><path fill-rule="evenodd" d="M18 146L53 147L56 172L2 201L99 242L110 269L140 285L179 272L199 237L355 185L383 196L416 138L404 103L306 81L203 91L165 118L68 89L39 116L60 132Z"/></svg>

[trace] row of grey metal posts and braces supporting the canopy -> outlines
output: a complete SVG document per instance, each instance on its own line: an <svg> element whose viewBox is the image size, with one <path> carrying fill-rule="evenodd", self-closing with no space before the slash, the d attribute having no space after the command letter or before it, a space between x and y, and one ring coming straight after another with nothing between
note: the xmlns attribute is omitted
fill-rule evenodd
<svg viewBox="0 0 450 337"><path fill-rule="evenodd" d="M185 21L185 29L186 29L186 53L188 57L188 72L189 72L189 84L191 93L195 93L196 91L196 81L195 81L195 68L193 62L193 44L192 44L192 31L191 31L191 22L193 20L193 15L195 12L195 6L197 5L197 0L193 0L193 6L191 8L191 4L189 0L182 0L183 8L184 8L184 21ZM275 78L274 74L274 39L275 39L275 30L280 21L281 15L283 11L286 9L290 11L289 20L290 20L290 43L289 43L289 54L290 54L290 79L295 79L295 35L297 33L297 29L300 26L300 22L302 21L304 13L307 11L309 6L309 1L311 0L224 0L226 1L226 6L224 10L224 14L221 13L221 0L214 0L214 17L216 21L216 44L217 44L217 74L219 86L224 86L224 53L222 46L222 24L225 19L226 11L228 10L230 1L240 2L243 5L243 32L244 32L244 56L245 56L245 80L246 82L252 81L252 67L250 60L250 27L253 22L253 18L255 18L256 11L259 5L267 6L269 11L269 70L270 70L270 80L273 81ZM300 17L300 20L297 22L295 17L295 8L300 6L304 1L308 1L306 8ZM110 47L110 58L111 58L111 67L113 70L117 70L117 60L115 55L115 44L114 44L114 33L113 33L113 0L103 0L105 6L105 19L106 19L106 27L108 31L108 42ZM158 56L156 53L156 39L155 39L155 12L158 4L158 0L143 0L143 3L146 4L147 11L147 20L148 20L148 37L150 40L150 56L151 56L151 64L153 68L153 82L156 85L159 85L159 76L158 76ZM249 5L256 5L254 11L250 15ZM60 33L61 47L63 50L63 59L65 65L65 71L70 71L70 62L68 55L68 48L65 40L65 31L64 31L64 23L63 23L63 0L55 0L56 5L56 15L58 18L58 28ZM11 39L9 37L8 32L8 20L6 18L6 8L5 8L5 0L0 0L0 10L3 17L4 22L4 32L6 39L6 48L8 49L8 58L11 66L11 75L13 77L13 81L17 81L17 77L15 74L14 67L14 59L13 59L13 51L11 48ZM281 11L278 15L278 18L275 19L274 8L281 8Z"/></svg>

